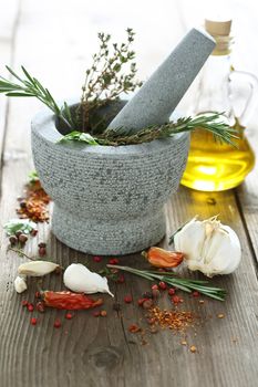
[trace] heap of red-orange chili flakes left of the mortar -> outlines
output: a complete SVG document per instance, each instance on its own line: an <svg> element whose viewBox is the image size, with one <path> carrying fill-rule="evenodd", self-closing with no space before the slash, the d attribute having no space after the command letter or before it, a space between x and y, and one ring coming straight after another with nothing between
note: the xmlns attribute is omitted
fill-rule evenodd
<svg viewBox="0 0 258 387"><path fill-rule="evenodd" d="M19 200L20 208L17 213L21 219L29 218L35 222L45 222L49 220L50 200L39 180L30 182L27 185L25 197Z"/></svg>

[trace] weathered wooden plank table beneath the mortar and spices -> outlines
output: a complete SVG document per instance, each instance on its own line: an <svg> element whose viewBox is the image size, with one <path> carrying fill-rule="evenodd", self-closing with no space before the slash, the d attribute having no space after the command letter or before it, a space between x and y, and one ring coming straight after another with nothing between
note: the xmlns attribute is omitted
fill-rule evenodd
<svg viewBox="0 0 258 387"><path fill-rule="evenodd" d="M258 33L255 2L229 3L237 41L235 63L258 75L252 43ZM61 98L79 95L83 71L96 48L96 31L120 36L127 25L133 27L137 31L140 73L146 76L188 27L202 19L205 2L0 0L0 6L1 74L3 64L14 67L24 64ZM187 105L189 95L182 106ZM1 224L16 217L17 197L22 194L28 172L33 168L30 119L39 107L32 100L0 98ZM252 121L248 135L257 149L257 123L255 117ZM146 345L141 345L138 336L127 331L130 324L141 323L143 312L136 300L149 287L144 280L133 276L126 276L123 285L112 285L115 300L122 305L121 313L112 310L113 302L105 296L107 317L95 318L91 312L82 312L65 321L64 313L48 311L37 326L30 325L31 314L22 310L21 300L32 300L35 289L31 286L24 295L14 292L13 280L23 259L7 253L8 240L1 232L0 386L257 386L257 191L256 168L237 189L204 194L182 187L167 205L167 234L196 213L203 218L219 213L221 220L236 230L242 245L242 261L237 272L213 280L215 285L228 291L225 303L204 299L205 304L200 305L193 297L184 296L185 310L210 316L196 334L188 332L187 346L180 344L180 336L169 331L152 335ZM211 205L209 198L214 198L215 203ZM38 240L28 243L28 254L35 254L39 241L48 242L49 257L63 266L86 262L85 254L56 241L49 226L41 226ZM97 269L106 260L91 263L91 268ZM121 262L141 265L142 261L140 254L135 254L121 258ZM61 289L61 279L48 276L43 286ZM128 293L133 294L134 302L125 305L123 297ZM166 300L163 303L169 305ZM225 318L217 318L220 313ZM62 321L60 330L53 327L55 317ZM197 353L190 353L189 345L195 345Z"/></svg>

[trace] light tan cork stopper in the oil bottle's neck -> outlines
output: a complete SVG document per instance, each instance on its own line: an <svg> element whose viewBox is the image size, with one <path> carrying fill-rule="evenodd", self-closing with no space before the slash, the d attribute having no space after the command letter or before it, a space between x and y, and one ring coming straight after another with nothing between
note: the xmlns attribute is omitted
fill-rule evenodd
<svg viewBox="0 0 258 387"><path fill-rule="evenodd" d="M205 30L216 41L216 48L211 55L228 55L233 42L233 38L230 36L231 20L205 19Z"/></svg>

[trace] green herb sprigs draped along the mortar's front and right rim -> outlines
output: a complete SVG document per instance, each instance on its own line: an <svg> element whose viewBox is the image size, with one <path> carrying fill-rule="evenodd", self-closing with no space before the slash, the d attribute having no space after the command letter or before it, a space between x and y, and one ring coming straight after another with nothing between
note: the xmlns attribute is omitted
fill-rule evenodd
<svg viewBox="0 0 258 387"><path fill-rule="evenodd" d="M182 132L192 132L196 128L203 128L213 133L215 139L235 146L231 138L238 138L234 128L219 121L221 114L199 115L196 117L179 118L176 122L169 122L164 125L153 125L135 134L121 135L117 132L109 129L99 136L85 137L80 132L73 132L64 136L61 142L76 140L90 145L134 145L148 143L154 139L166 138Z"/></svg>

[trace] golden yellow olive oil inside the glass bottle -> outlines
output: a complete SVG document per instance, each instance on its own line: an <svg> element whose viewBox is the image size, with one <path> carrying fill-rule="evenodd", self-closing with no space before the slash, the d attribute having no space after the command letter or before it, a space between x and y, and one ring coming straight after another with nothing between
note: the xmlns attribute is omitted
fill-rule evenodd
<svg viewBox="0 0 258 387"><path fill-rule="evenodd" d="M192 133L190 149L182 184L202 191L223 191L244 181L254 168L255 154L244 135L244 128L235 125L237 147L218 144L211 133L196 129Z"/></svg>

